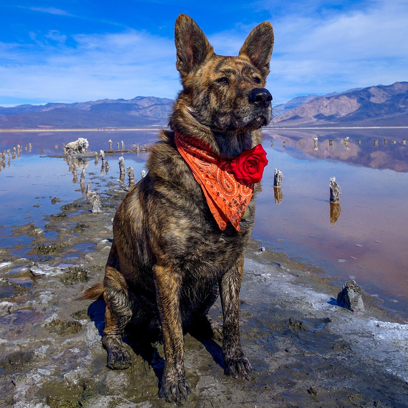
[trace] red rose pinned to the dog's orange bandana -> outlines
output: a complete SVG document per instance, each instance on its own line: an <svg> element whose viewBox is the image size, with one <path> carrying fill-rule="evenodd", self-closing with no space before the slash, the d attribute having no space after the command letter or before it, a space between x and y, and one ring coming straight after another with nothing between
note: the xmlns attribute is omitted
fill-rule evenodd
<svg viewBox="0 0 408 408"><path fill-rule="evenodd" d="M243 151L231 162L235 178L242 184L259 183L268 164L266 151L262 144L257 144L249 150Z"/></svg>

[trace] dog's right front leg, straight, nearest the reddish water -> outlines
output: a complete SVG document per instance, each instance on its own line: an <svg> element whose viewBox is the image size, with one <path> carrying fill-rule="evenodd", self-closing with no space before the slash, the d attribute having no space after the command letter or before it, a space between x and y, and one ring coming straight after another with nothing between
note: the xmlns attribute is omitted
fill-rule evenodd
<svg viewBox="0 0 408 408"><path fill-rule="evenodd" d="M222 355L224 356L225 375L247 379L252 372L252 366L242 353L239 340L239 306L238 297L244 273L244 256L222 275L219 281L222 314Z"/></svg>

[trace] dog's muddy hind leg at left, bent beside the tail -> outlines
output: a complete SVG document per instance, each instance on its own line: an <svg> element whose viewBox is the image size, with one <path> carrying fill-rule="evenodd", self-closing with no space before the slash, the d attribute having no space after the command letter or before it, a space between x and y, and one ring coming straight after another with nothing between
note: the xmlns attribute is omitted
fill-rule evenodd
<svg viewBox="0 0 408 408"><path fill-rule="evenodd" d="M106 311L102 346L108 353L106 365L113 370L124 370L131 366L132 360L122 344L122 335L131 321L134 302L123 275L111 266L105 268L104 299Z"/></svg>

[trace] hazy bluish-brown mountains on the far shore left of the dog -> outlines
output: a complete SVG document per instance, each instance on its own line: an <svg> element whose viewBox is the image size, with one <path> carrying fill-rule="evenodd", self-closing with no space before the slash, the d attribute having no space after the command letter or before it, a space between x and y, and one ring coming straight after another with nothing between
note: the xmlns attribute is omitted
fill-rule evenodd
<svg viewBox="0 0 408 408"><path fill-rule="evenodd" d="M0 106L0 129L78 129L163 125L173 101L153 96L72 104Z"/></svg>

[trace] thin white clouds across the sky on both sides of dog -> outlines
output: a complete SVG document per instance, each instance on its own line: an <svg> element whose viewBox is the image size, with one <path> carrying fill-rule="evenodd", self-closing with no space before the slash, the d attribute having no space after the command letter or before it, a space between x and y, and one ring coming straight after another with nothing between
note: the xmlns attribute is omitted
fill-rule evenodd
<svg viewBox="0 0 408 408"><path fill-rule="evenodd" d="M257 7L268 4L257 2ZM372 0L369 5L321 14L291 9L271 17L275 47L267 87L274 102L408 80L408 3ZM208 38L216 53L237 55L254 25L237 24ZM0 95L7 102L11 97L44 102L174 98L180 89L172 39L130 29L74 36L51 30L45 36L31 33L31 39L35 43L0 43L0 77L6 78Z"/></svg>

